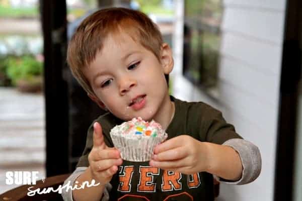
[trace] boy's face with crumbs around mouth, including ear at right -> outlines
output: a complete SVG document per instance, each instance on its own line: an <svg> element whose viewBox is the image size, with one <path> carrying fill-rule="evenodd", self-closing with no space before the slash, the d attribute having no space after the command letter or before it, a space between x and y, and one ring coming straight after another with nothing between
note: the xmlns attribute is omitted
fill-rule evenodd
<svg viewBox="0 0 302 201"><path fill-rule="evenodd" d="M167 44L162 46L160 60L126 34L108 37L84 70L96 94L90 97L124 121L133 117L159 122L170 118L165 74L172 71L173 58Z"/></svg>

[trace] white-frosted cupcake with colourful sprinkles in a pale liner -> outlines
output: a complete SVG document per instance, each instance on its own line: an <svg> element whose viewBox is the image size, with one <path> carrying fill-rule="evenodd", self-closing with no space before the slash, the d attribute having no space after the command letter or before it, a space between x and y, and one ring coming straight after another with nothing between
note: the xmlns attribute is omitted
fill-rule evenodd
<svg viewBox="0 0 302 201"><path fill-rule="evenodd" d="M110 136L122 159L141 162L151 159L154 147L166 140L168 134L159 123L138 117L112 128Z"/></svg>

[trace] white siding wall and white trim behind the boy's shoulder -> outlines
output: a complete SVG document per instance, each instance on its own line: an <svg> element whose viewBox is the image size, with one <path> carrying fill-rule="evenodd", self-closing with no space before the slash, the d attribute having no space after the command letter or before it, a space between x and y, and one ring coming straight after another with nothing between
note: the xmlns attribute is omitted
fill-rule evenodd
<svg viewBox="0 0 302 201"><path fill-rule="evenodd" d="M178 0L176 20L181 20L183 1ZM218 200L273 200L278 97L285 15L285 0L224 0L220 98L208 97L181 75L182 41L176 26L173 94L201 100L221 110L245 139L262 154L262 172L253 183L220 185ZM177 22L177 24L182 21Z"/></svg>

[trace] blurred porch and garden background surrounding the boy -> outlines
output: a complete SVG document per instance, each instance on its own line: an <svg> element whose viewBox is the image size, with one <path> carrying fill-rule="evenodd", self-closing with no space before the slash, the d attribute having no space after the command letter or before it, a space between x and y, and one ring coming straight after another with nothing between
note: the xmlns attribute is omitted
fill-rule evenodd
<svg viewBox="0 0 302 201"><path fill-rule="evenodd" d="M0 0L0 193L7 171L72 172L104 111L65 62L68 40L98 9L146 13L173 49L170 92L222 111L256 144L262 172L220 184L217 200L302 200L298 0Z"/></svg>

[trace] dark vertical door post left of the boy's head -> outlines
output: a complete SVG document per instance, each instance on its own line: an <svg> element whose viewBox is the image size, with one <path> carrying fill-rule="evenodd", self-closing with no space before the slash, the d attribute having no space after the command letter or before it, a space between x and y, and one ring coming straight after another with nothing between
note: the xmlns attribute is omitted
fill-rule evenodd
<svg viewBox="0 0 302 201"><path fill-rule="evenodd" d="M63 78L66 58L66 1L40 0L44 39L46 176L68 173L68 91Z"/></svg>

